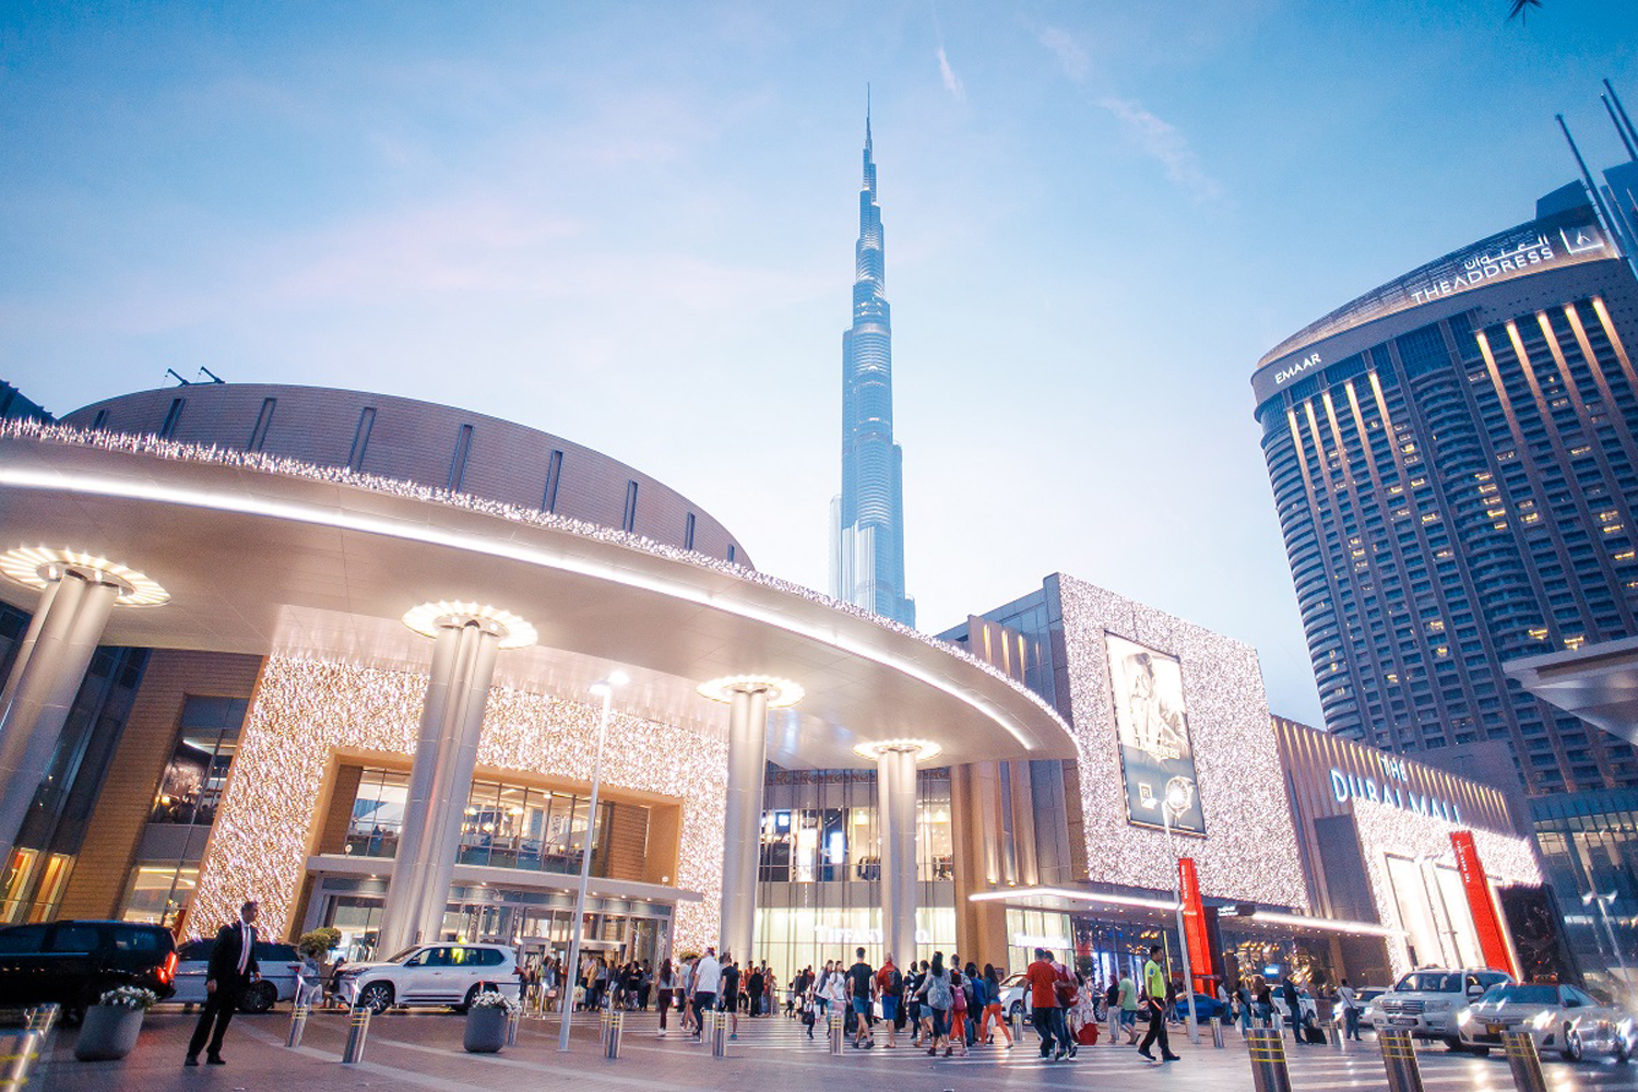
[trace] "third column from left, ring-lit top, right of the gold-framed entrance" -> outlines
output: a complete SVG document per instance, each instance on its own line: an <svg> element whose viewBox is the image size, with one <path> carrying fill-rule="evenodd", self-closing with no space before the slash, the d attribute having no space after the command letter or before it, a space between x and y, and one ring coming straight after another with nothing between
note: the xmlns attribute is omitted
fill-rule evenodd
<svg viewBox="0 0 1638 1092"><path fill-rule="evenodd" d="M788 679L734 676L699 686L727 702L727 799L722 822L722 910L717 951L740 963L755 954L757 868L762 863L762 789L768 776L768 709L794 706L803 688Z"/></svg>

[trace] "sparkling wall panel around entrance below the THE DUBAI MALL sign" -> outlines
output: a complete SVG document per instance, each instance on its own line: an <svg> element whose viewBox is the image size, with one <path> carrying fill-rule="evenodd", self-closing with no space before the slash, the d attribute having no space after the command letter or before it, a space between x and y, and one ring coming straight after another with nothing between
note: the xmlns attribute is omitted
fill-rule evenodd
<svg viewBox="0 0 1638 1092"><path fill-rule="evenodd" d="M1455 830L1473 833L1479 863L1484 864L1484 874L1492 884L1507 887L1510 884L1543 882L1540 861L1536 861L1535 850L1527 838L1453 824L1437 815L1420 815L1371 801L1353 802L1353 822L1360 832L1360 850L1364 856L1366 876L1371 881L1371 899L1376 902L1376 915L1382 925L1405 928L1405 923L1399 920L1394 886L1387 878L1387 858L1427 860L1435 866L1456 868L1456 850L1450 843L1450 835ZM1410 969L1410 956L1404 940L1389 941L1387 959L1392 964L1394 977Z"/></svg>

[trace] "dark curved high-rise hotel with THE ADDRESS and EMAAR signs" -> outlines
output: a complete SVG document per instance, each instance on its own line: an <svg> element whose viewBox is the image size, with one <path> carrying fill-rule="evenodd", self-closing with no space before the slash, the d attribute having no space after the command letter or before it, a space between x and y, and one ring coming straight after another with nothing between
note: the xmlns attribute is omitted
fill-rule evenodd
<svg viewBox="0 0 1638 1092"><path fill-rule="evenodd" d="M1638 635L1638 282L1581 183L1274 347L1251 377L1325 727L1502 740L1533 796L1638 753L1502 665Z"/></svg>

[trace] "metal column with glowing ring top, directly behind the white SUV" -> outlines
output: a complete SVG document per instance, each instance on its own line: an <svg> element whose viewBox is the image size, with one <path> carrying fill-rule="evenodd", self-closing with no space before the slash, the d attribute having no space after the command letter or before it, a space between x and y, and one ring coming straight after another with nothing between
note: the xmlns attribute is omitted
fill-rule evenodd
<svg viewBox="0 0 1638 1092"><path fill-rule="evenodd" d="M418 632L431 629L432 671L382 910L377 953L383 956L437 940L442 932L495 657L501 648L534 643L534 630L516 619L508 625L490 614L452 611L419 625L414 614L405 620Z"/></svg>

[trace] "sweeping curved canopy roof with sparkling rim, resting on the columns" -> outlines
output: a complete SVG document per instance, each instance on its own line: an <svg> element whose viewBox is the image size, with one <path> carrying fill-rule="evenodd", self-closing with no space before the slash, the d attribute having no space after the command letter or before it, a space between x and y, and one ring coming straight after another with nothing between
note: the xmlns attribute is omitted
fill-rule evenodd
<svg viewBox="0 0 1638 1092"><path fill-rule="evenodd" d="M539 645L500 679L554 694L622 666L621 707L726 720L696 686L727 675L806 689L770 715L768 760L867 766L855 745L922 738L939 765L1073 758L1040 697L952 645L727 562L537 511L347 470L82 432L0 427L0 550L70 547L141 570L170 601L115 611L105 643L331 655L424 670L400 619L424 601L511 611ZM38 591L0 580L33 611Z"/></svg>

